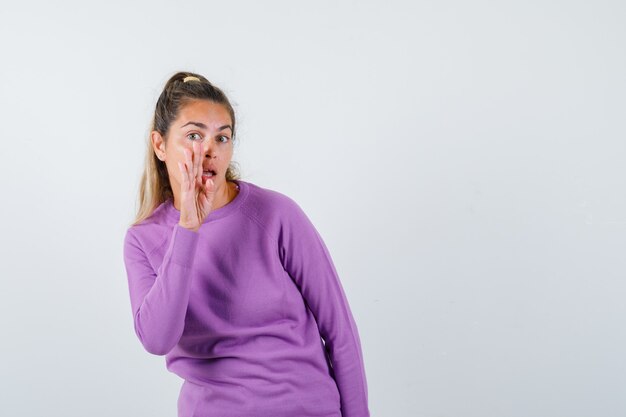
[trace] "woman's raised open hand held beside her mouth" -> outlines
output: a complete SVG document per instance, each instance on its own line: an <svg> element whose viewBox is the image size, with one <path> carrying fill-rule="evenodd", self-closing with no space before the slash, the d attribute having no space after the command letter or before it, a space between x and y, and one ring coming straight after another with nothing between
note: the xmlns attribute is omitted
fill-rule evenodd
<svg viewBox="0 0 626 417"><path fill-rule="evenodd" d="M202 184L202 149L199 142L193 143L193 155L183 149L185 163L178 162L181 173L180 221L181 226L198 231L202 222L213 208L215 184L208 178Z"/></svg>

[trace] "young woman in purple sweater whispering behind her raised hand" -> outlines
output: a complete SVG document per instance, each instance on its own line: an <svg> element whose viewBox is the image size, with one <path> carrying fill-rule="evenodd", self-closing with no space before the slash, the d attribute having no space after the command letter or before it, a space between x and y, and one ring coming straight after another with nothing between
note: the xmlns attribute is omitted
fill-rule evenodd
<svg viewBox="0 0 626 417"><path fill-rule="evenodd" d="M238 177L234 140L219 88L169 79L124 240L137 337L184 379L179 417L368 417L331 256L294 200Z"/></svg>

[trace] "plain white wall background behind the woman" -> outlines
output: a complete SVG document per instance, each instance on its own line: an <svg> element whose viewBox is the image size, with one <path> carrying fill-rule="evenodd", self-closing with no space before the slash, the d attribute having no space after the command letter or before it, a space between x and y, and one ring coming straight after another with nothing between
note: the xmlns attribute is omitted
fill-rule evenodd
<svg viewBox="0 0 626 417"><path fill-rule="evenodd" d="M178 70L324 237L372 416L626 415L624 2L309 3L3 3L0 415L176 414L122 241Z"/></svg>

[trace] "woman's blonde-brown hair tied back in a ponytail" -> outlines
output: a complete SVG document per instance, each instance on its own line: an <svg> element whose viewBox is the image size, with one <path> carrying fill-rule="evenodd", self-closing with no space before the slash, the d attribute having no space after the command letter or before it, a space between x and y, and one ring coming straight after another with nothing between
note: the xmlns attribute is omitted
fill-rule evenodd
<svg viewBox="0 0 626 417"><path fill-rule="evenodd" d="M222 90L214 86L202 75L191 72L177 72L165 84L157 100L151 131L159 132L167 142L167 133L180 109L190 100L203 99L222 104L228 110L233 126L235 143L235 111ZM139 208L132 225L137 225L150 217L154 210L168 199L173 199L167 167L157 158L150 134L146 143L144 170L139 184ZM226 181L240 179L237 163L231 161L226 170Z"/></svg>

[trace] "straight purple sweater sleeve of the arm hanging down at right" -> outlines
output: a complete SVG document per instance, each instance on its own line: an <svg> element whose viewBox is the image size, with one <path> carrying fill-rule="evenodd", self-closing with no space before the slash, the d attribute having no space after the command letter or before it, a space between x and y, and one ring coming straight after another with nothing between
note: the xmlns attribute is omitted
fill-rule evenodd
<svg viewBox="0 0 626 417"><path fill-rule="evenodd" d="M279 251L324 339L339 389L342 417L369 417L361 343L346 295L322 237L291 199L281 226Z"/></svg>

